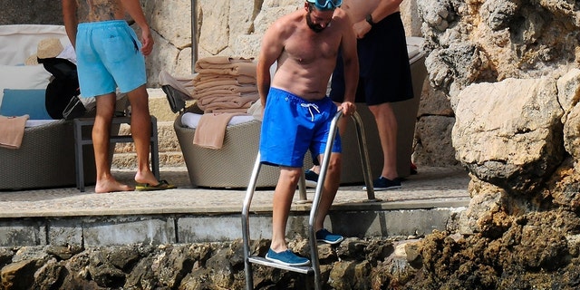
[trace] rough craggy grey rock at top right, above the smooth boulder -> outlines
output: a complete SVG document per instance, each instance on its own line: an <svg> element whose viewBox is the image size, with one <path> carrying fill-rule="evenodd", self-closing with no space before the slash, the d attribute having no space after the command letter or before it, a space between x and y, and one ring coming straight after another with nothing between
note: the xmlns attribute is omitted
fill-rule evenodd
<svg viewBox="0 0 580 290"><path fill-rule="evenodd" d="M417 5L430 82L450 95L474 82L539 78L575 61L578 8L570 2L420 1Z"/></svg>

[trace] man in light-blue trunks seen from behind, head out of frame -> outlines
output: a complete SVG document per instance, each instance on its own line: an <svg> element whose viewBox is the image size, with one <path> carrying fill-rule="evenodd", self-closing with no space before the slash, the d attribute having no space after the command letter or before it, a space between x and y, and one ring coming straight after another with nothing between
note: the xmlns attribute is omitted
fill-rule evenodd
<svg viewBox="0 0 580 290"><path fill-rule="evenodd" d="M125 14L140 26L142 44L125 20ZM97 181L95 192L127 191L111 175L109 136L115 112L116 88L127 92L131 102L131 134L137 151L135 181L146 189L171 188L150 170L151 119L145 88L144 55L151 53L153 38L139 0L63 0L63 20L77 54L83 97L96 97L97 113L92 129Z"/></svg>

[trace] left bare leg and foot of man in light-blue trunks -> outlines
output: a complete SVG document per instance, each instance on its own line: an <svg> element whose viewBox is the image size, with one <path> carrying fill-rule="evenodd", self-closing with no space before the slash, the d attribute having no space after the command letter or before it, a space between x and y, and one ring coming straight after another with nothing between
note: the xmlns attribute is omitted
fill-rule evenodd
<svg viewBox="0 0 580 290"><path fill-rule="evenodd" d="M92 127L92 146L97 168L96 193L129 191L130 186L119 183L111 174L109 146L112 115L115 112L116 97L114 93L97 96L97 114Z"/></svg>

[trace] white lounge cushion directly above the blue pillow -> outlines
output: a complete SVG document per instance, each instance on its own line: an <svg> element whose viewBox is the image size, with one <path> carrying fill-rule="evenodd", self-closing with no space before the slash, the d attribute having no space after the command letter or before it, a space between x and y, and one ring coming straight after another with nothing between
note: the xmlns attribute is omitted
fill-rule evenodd
<svg viewBox="0 0 580 290"><path fill-rule="evenodd" d="M46 89L51 75L42 64L0 64L0 106L2 106L4 89Z"/></svg>

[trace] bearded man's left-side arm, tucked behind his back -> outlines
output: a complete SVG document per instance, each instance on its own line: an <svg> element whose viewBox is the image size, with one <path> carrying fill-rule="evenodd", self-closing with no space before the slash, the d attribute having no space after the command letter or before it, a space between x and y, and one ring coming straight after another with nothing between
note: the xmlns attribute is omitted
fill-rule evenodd
<svg viewBox="0 0 580 290"><path fill-rule="evenodd" d="M283 40L278 29L279 24L275 22L266 30L262 44L260 46L260 54L256 66L256 84L257 92L260 95L260 102L266 108L266 96L270 90L270 67L278 59L284 47ZM279 64L279 63L278 63Z"/></svg>

